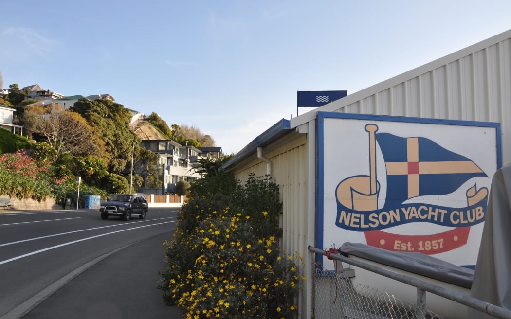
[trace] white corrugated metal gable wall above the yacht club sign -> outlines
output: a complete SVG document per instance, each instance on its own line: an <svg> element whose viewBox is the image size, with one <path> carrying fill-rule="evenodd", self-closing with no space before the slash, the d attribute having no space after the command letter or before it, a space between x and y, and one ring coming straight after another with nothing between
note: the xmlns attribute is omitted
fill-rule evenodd
<svg viewBox="0 0 511 319"><path fill-rule="evenodd" d="M321 110L500 122L505 165L511 162L511 30L499 36L507 38L483 41L492 44L461 50L357 92L352 103L341 99Z"/></svg>

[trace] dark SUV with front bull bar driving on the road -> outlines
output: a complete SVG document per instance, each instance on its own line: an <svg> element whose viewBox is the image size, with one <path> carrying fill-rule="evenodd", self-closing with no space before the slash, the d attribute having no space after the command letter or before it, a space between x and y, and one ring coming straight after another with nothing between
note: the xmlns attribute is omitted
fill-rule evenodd
<svg viewBox="0 0 511 319"><path fill-rule="evenodd" d="M144 195L115 194L107 202L101 203L99 211L103 219L107 219L108 216L119 216L124 220L130 220L133 215L138 215L140 219L146 218L147 209L147 199Z"/></svg>

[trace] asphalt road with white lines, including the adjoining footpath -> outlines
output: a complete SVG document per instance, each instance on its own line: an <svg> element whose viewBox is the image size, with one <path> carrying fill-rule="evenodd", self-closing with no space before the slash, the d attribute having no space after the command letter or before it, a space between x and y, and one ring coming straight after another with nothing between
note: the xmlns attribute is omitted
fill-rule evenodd
<svg viewBox="0 0 511 319"><path fill-rule="evenodd" d="M0 319L179 318L156 288L175 208L146 219L99 211L0 214Z"/></svg>

